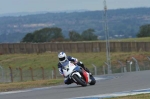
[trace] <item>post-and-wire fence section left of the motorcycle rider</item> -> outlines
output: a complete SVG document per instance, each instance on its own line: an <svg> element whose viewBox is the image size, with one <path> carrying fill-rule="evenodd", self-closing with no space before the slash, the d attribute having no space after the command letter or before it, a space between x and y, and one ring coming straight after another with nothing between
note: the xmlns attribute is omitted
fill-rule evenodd
<svg viewBox="0 0 150 99"><path fill-rule="evenodd" d="M1 66L1 68L3 68ZM61 77L58 75L56 68L46 69L44 67L40 68L3 68L0 69L0 82L22 82L22 81L35 81L35 80L46 80L46 79L56 79Z"/></svg>

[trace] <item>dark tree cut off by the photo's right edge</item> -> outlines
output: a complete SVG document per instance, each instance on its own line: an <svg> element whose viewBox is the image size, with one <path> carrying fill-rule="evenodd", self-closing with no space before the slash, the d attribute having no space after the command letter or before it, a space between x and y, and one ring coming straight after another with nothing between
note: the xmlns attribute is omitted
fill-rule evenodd
<svg viewBox="0 0 150 99"><path fill-rule="evenodd" d="M137 37L150 37L150 24L142 25Z"/></svg>

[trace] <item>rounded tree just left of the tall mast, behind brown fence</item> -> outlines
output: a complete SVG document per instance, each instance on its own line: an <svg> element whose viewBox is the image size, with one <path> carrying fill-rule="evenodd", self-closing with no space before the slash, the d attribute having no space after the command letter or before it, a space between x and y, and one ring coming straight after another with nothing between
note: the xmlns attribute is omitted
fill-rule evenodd
<svg viewBox="0 0 150 99"><path fill-rule="evenodd" d="M97 40L97 36L94 34L94 29L87 29L82 32L81 36L83 40Z"/></svg>

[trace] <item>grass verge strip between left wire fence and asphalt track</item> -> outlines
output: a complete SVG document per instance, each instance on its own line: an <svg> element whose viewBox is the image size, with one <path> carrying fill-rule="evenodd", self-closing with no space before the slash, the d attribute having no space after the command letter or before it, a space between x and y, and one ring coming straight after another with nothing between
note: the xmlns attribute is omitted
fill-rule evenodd
<svg viewBox="0 0 150 99"><path fill-rule="evenodd" d="M40 88L40 87L54 86L60 84L63 84L63 79L2 83L0 84L0 92L22 90L28 88Z"/></svg>

